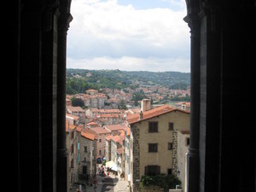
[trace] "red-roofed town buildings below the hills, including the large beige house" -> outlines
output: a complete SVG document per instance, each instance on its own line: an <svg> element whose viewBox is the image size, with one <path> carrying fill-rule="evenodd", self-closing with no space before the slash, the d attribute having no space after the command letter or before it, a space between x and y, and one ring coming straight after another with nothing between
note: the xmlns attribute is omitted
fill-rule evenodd
<svg viewBox="0 0 256 192"><path fill-rule="evenodd" d="M144 98L135 100L137 93ZM110 173L127 183L126 191L137 191L143 177L160 174L177 179L172 186L166 183L170 189L184 189L190 103L155 102L167 95L189 95L189 90L140 85L67 95L69 187L90 186L92 178Z"/></svg>

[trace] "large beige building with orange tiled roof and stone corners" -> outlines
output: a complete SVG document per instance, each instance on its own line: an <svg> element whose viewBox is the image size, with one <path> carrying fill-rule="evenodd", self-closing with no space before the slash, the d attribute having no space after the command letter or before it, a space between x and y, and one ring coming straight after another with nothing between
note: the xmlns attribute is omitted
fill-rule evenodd
<svg viewBox="0 0 256 192"><path fill-rule="evenodd" d="M148 105L144 105L148 106ZM127 117L131 127L131 191L143 175L177 176L177 132L189 131L189 112L164 105Z"/></svg>

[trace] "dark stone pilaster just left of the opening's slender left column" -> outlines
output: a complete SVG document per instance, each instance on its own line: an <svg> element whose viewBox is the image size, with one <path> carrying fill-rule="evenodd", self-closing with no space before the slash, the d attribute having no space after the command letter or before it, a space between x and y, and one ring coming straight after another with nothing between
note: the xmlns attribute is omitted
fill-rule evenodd
<svg viewBox="0 0 256 192"><path fill-rule="evenodd" d="M44 6L42 18L42 176L43 191L56 191L57 159L57 20L58 3Z"/></svg>

